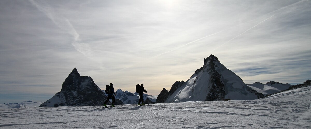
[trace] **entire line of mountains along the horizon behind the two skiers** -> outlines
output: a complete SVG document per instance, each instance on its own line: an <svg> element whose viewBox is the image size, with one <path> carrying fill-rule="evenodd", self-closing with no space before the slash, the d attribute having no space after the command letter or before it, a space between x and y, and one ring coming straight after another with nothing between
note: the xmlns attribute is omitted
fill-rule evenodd
<svg viewBox="0 0 311 129"><path fill-rule="evenodd" d="M309 83L310 81L308 80L305 82L305 84ZM169 91L163 88L158 96L144 94L144 100L145 103L253 100L292 87L295 86L275 81L270 81L267 84L260 82L245 84L238 75L222 65L216 56L211 55L204 59L204 65L197 69L189 80L176 81ZM117 89L116 93L116 105L138 103L139 95L136 92L131 93ZM77 69L74 68L64 81L61 91L39 105L39 107L103 105L106 99L105 91L101 90L91 77L81 76ZM2 104L1 106L22 108L30 105L31 101L23 103Z"/></svg>

